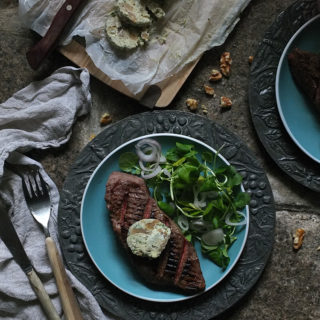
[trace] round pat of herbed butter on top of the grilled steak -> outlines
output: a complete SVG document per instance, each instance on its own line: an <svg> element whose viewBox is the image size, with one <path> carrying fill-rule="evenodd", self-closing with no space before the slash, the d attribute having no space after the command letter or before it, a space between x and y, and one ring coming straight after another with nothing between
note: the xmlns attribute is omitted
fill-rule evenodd
<svg viewBox="0 0 320 320"><path fill-rule="evenodd" d="M132 253L158 258L167 245L171 230L157 219L142 219L130 226L127 244Z"/></svg>

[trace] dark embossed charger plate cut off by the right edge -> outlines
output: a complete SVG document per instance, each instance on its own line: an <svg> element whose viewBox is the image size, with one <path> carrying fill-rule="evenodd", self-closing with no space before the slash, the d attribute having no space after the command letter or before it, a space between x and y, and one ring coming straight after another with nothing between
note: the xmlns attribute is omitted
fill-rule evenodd
<svg viewBox="0 0 320 320"><path fill-rule="evenodd" d="M251 66L249 104L257 134L276 164L303 186L320 191L320 166L299 149L278 112L275 79L282 52L295 32L320 12L320 1L298 0L267 30ZM319 137L315 137L319 139Z"/></svg>

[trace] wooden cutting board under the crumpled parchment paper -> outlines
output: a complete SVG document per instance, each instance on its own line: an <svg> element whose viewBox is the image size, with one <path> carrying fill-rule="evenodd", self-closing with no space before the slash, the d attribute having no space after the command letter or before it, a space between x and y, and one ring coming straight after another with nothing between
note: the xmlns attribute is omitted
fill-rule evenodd
<svg viewBox="0 0 320 320"><path fill-rule="evenodd" d="M90 74L95 78L104 82L113 89L127 95L128 97L138 100L141 104L150 108L167 107L200 60L200 58L198 58L196 61L186 65L177 74L157 83L156 86L153 85L145 88L138 95L134 95L128 90L122 81L112 80L100 69L98 69L87 54L85 48L75 40L73 40L67 46L60 47L59 51L77 66L87 68Z"/></svg>

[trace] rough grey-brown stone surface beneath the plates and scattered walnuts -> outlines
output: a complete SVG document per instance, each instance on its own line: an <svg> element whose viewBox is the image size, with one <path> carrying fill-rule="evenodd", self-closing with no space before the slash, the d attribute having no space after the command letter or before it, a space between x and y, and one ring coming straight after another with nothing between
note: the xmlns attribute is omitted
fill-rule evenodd
<svg viewBox="0 0 320 320"><path fill-rule="evenodd" d="M261 161L273 189L277 226L271 259L253 290L223 317L225 319L320 318L320 251L317 251L320 246L320 197L293 182L271 160L253 128L248 102L248 56L255 55L268 27L292 3L292 0L252 0L226 43L204 54L177 97L166 108L187 111L185 100L198 99L200 106L207 107L209 119L238 134L250 147ZM27 65L25 53L38 37L23 27L17 16L17 7L17 0L0 2L0 102L31 81L46 77L60 66L71 64L60 54L54 53L36 72ZM210 70L218 67L223 51L231 53L232 74L229 79L211 84L208 82ZM215 88L216 97L205 95L204 84ZM93 78L91 91L91 114L76 122L71 140L58 150L31 153L43 163L60 189L69 166L90 141L90 136L102 130L99 119L103 113L109 112L115 122L147 111L137 102ZM232 99L233 107L230 110L220 111L220 95ZM201 109L197 113L202 114ZM294 252L292 232L298 227L306 230L306 236L302 248Z"/></svg>

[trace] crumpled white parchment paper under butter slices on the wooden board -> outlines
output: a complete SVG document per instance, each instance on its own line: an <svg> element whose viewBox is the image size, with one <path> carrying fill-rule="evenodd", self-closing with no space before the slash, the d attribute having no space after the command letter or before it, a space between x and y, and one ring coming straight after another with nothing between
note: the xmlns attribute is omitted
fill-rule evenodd
<svg viewBox="0 0 320 320"><path fill-rule="evenodd" d="M20 0L19 14L44 36L64 0ZM165 18L158 21L144 48L118 54L105 37L105 20L115 0L88 0L71 31L61 39L85 38L95 65L112 80L122 80L133 94L180 71L205 51L224 43L250 0L164 0ZM165 43L158 38L165 39Z"/></svg>

